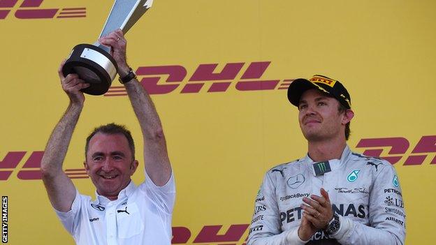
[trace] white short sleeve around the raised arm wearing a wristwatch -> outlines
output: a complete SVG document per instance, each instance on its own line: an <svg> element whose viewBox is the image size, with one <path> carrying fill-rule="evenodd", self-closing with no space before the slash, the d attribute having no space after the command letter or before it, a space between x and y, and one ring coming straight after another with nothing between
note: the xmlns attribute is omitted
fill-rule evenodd
<svg viewBox="0 0 436 245"><path fill-rule="evenodd" d="M145 182L140 186L147 192L150 199L166 214L172 214L175 201L175 180L173 171L170 179L163 186L157 186L153 183L150 176L145 171Z"/></svg>

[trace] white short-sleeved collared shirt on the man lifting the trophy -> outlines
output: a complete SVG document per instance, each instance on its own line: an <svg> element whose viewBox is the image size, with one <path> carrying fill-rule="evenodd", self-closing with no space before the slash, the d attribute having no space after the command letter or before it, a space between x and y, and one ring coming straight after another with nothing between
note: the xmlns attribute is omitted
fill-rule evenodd
<svg viewBox="0 0 436 245"><path fill-rule="evenodd" d="M96 193L92 201L76 190L71 210L56 211L76 244L170 244L175 182L171 174L163 186L156 186L145 174L136 186L130 181L117 200Z"/></svg>

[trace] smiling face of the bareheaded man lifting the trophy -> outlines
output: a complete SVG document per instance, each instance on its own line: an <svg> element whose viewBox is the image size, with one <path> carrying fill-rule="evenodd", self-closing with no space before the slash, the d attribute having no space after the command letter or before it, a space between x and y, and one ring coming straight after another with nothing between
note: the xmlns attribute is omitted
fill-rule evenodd
<svg viewBox="0 0 436 245"><path fill-rule="evenodd" d="M100 195L116 197L137 167L124 135L96 133L89 140L85 169Z"/></svg>

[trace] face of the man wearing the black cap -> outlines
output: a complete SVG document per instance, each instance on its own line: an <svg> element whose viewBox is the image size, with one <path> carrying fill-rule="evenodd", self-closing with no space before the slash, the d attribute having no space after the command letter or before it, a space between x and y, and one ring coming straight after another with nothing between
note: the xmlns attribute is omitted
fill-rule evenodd
<svg viewBox="0 0 436 245"><path fill-rule="evenodd" d="M351 120L348 115L352 111L340 113L339 105L339 101L318 89L309 89L302 94L298 105L298 121L307 141L345 138L345 125Z"/></svg>

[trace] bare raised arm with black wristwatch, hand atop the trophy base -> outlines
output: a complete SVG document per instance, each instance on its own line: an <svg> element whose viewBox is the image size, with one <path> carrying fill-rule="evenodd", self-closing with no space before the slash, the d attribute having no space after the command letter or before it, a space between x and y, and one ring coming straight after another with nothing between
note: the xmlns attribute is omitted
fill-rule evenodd
<svg viewBox="0 0 436 245"><path fill-rule="evenodd" d="M112 57L117 61L119 76L125 77L129 74L130 67L126 63L126 39L122 31L118 29L99 41L112 47ZM143 132L145 170L154 184L163 186L170 179L171 166L161 120L152 99L136 77L125 83L124 87Z"/></svg>

